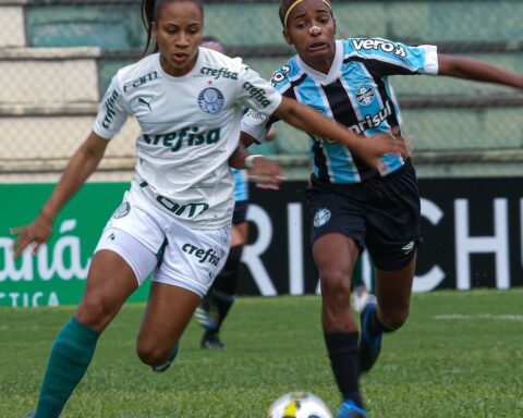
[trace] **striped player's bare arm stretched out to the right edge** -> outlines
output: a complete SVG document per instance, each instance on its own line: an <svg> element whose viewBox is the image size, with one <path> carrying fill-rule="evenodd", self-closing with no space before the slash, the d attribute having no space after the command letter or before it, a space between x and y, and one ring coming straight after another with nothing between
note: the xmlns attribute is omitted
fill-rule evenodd
<svg viewBox="0 0 523 418"><path fill-rule="evenodd" d="M523 75L478 60L458 56L438 54L438 75L496 83L523 89Z"/></svg>

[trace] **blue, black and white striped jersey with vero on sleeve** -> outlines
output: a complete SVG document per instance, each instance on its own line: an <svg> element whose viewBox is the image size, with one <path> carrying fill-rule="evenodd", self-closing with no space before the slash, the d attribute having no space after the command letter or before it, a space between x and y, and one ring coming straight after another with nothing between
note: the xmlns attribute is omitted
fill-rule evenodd
<svg viewBox="0 0 523 418"><path fill-rule="evenodd" d="M349 38L336 41L336 58L329 74L323 74L299 56L272 76L271 83L283 96L307 104L357 134L369 136L400 130L400 109L389 85L389 75L437 74L435 46L410 47L380 38ZM257 140L265 138L266 116L250 111L242 131ZM343 145L312 136L314 177L320 183L360 183L398 170L404 161L398 155L381 158L380 172L365 165Z"/></svg>

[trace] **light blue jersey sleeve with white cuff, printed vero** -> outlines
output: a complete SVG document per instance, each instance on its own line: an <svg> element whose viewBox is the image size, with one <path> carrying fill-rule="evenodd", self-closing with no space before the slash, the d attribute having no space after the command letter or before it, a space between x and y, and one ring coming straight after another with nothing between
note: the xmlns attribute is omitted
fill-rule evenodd
<svg viewBox="0 0 523 418"><path fill-rule="evenodd" d="M438 73L438 50L434 45L411 47L381 38L348 39L351 49L366 62L373 62L380 76Z"/></svg>

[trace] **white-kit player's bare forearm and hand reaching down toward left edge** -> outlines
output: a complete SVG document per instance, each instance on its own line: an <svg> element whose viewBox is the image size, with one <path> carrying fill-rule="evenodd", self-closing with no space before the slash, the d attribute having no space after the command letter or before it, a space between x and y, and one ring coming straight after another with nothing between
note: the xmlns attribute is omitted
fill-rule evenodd
<svg viewBox="0 0 523 418"><path fill-rule="evenodd" d="M12 235L16 235L13 245L14 258L17 258L32 243L35 243L33 249L33 254L35 254L40 245L49 238L52 232L52 221L57 213L96 170L108 143L107 139L92 132L69 160L60 181L36 219L27 226L10 230Z"/></svg>

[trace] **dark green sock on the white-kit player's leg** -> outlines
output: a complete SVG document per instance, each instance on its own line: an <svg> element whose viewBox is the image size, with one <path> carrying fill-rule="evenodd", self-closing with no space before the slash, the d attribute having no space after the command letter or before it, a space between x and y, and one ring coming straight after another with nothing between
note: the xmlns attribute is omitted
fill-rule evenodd
<svg viewBox="0 0 523 418"><path fill-rule="evenodd" d="M49 356L35 418L60 416L90 364L99 335L74 317L62 328Z"/></svg>

